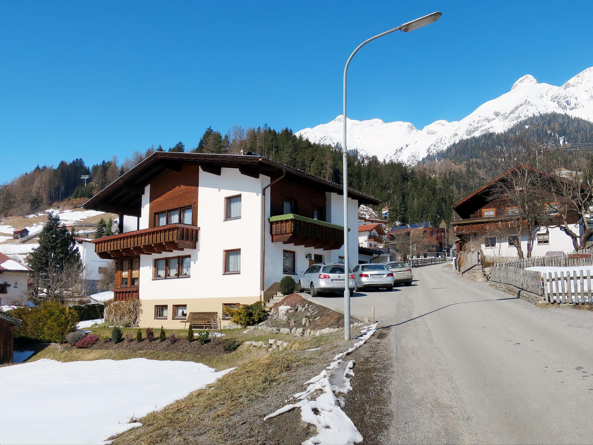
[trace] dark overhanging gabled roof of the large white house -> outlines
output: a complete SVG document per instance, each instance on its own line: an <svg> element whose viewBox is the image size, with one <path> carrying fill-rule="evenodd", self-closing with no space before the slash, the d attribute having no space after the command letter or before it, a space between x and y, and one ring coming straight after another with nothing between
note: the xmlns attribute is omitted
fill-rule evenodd
<svg viewBox="0 0 593 445"><path fill-rule="evenodd" d="M141 197L144 187L151 180L168 170L180 171L184 164L199 165L211 173L220 173L223 167L239 169L247 176L259 177L259 174L276 179L286 172L287 179L314 183L324 191L342 192L341 185L321 179L304 171L293 169L285 164L264 158L259 154L206 154L156 151L132 169L126 171L110 185L101 190L83 205L87 209L108 212L122 212L126 215L139 216ZM348 189L348 196L358 199L362 204L381 204L377 198L365 193Z"/></svg>

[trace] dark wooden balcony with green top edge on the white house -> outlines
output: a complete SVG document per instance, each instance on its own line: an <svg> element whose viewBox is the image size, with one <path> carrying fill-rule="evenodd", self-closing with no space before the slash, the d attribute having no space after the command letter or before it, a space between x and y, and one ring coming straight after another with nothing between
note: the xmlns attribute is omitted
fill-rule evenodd
<svg viewBox="0 0 593 445"><path fill-rule="evenodd" d="M344 227L325 221L313 220L295 214L271 217L272 242L294 244L315 249L339 249L344 243Z"/></svg>

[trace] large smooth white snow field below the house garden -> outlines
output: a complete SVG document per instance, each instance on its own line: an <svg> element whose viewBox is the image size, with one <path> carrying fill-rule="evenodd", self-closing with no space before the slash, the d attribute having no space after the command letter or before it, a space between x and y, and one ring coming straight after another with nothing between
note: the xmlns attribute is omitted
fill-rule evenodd
<svg viewBox="0 0 593 445"><path fill-rule="evenodd" d="M101 444L231 371L193 361L37 360L0 368L2 444ZM85 408L92 403L93 408ZM182 425L180 425L182 427Z"/></svg>

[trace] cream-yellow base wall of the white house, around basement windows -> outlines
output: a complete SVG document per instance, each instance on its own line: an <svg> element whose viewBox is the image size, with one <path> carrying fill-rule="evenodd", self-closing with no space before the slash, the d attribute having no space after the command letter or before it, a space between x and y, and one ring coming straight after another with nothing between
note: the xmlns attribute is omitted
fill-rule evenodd
<svg viewBox="0 0 593 445"><path fill-rule="evenodd" d="M184 329L187 328L183 320L174 319L175 310L173 306L186 305L187 313L190 312L218 312L219 319L222 317L223 304L251 304L259 301L257 297L240 297L240 298L179 298L174 300L167 298L166 300L140 300L140 322L141 328L160 328L165 329ZM156 307L167 306L167 319L155 318ZM230 323L230 320L221 320L221 326L225 328Z"/></svg>

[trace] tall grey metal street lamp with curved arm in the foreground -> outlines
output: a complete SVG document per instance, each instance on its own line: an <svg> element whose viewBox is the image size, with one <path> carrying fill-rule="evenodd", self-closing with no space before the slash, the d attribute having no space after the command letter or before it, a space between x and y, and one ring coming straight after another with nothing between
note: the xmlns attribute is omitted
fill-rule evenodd
<svg viewBox="0 0 593 445"><path fill-rule="evenodd" d="M344 145L342 146L342 170L343 170L343 199L344 199L344 268L346 275L348 273L348 149L346 145L346 74L348 72L348 65L350 65L350 61L352 60L353 56L365 46L367 43L371 42L372 40L378 39L379 37L385 36L387 34L393 33L393 31L403 31L404 33L409 33L410 31L417 30L418 28L422 28L428 24L431 24L441 17L441 12L433 12L432 14L425 15L424 17L417 18L416 20L409 21L404 23L403 25L398 26L397 28L390 29L385 31L384 33L377 34L377 36L371 37L370 39L366 39L360 45L353 50L352 54L346 61L346 66L344 67L344 94L343 94L343 139ZM350 279L344 280L344 338L346 340L350 339Z"/></svg>

